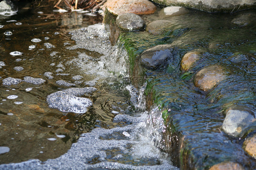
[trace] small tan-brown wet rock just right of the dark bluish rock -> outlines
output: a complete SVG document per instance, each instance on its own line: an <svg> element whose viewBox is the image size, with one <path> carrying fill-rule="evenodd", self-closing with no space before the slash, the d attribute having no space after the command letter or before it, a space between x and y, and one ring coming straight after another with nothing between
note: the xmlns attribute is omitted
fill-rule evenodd
<svg viewBox="0 0 256 170"><path fill-rule="evenodd" d="M202 52L200 51L191 51L186 53L180 62L180 69L183 71L189 70L197 60L200 59Z"/></svg>

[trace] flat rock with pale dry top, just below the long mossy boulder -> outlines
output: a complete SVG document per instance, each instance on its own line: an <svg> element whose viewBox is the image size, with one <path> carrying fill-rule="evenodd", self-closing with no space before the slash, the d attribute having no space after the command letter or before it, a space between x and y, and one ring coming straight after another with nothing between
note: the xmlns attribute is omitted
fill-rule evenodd
<svg viewBox="0 0 256 170"><path fill-rule="evenodd" d="M163 17L178 16L187 14L189 10L180 6L168 6L160 10L159 14Z"/></svg>

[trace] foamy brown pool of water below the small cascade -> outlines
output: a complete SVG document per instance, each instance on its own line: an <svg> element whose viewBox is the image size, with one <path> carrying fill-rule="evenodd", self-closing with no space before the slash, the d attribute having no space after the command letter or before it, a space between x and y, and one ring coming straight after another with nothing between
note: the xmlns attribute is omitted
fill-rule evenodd
<svg viewBox="0 0 256 170"><path fill-rule="evenodd" d="M0 18L0 169L177 169L102 16L19 9Z"/></svg>

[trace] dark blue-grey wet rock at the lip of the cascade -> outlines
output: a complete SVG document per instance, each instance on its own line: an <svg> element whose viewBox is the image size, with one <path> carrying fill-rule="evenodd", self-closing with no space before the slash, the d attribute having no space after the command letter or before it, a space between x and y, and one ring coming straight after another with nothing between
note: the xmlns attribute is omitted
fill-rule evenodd
<svg viewBox="0 0 256 170"><path fill-rule="evenodd" d="M145 50L140 55L140 64L150 69L164 68L168 65L178 65L178 51L172 45L156 45Z"/></svg>

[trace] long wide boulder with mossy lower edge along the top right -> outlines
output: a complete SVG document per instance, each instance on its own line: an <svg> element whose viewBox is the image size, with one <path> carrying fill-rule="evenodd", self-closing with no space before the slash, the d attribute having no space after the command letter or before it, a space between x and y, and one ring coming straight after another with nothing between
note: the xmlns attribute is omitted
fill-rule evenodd
<svg viewBox="0 0 256 170"><path fill-rule="evenodd" d="M166 6L183 6L208 12L235 12L256 6L255 0L152 0Z"/></svg>

